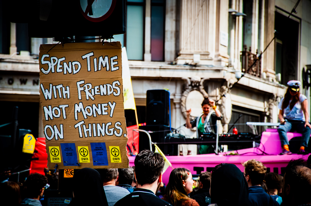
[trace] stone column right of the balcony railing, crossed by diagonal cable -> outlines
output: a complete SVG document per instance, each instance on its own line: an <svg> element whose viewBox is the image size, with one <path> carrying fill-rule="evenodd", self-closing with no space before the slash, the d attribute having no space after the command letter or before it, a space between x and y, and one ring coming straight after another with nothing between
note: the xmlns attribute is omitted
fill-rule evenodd
<svg viewBox="0 0 311 206"><path fill-rule="evenodd" d="M274 37L275 1L276 0L265 0L265 48ZM275 80L273 42L263 54L263 72L266 72L269 81Z"/></svg>

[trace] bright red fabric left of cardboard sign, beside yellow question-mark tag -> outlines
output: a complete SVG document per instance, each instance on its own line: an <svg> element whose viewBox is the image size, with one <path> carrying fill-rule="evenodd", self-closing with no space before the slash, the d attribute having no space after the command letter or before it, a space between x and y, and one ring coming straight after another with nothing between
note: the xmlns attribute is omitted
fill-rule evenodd
<svg viewBox="0 0 311 206"><path fill-rule="evenodd" d="M30 163L30 174L40 173L44 175L44 168L48 164L48 154L46 154L45 138L39 137L35 144L35 153L32 158L39 158L38 160L32 160Z"/></svg>

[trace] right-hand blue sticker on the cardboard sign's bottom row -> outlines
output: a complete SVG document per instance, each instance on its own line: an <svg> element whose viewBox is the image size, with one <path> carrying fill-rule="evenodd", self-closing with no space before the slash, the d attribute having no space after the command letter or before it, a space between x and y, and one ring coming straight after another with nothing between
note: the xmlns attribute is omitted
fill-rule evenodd
<svg viewBox="0 0 311 206"><path fill-rule="evenodd" d="M106 144L104 142L92 142L90 144L92 150L93 165L108 165Z"/></svg>

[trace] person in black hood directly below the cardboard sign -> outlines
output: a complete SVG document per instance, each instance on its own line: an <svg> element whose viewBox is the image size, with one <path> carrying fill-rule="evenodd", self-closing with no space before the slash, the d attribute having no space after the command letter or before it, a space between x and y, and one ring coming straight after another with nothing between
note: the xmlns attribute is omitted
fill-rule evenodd
<svg viewBox="0 0 311 206"><path fill-rule="evenodd" d="M83 168L73 176L73 200L70 205L108 205L102 179L93 168Z"/></svg>

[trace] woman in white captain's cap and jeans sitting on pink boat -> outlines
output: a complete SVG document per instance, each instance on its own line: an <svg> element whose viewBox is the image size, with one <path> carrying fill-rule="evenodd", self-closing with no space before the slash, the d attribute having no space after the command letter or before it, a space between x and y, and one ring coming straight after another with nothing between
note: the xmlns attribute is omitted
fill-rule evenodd
<svg viewBox="0 0 311 206"><path fill-rule="evenodd" d="M301 82L291 80L287 83L288 88L285 96L279 104L279 119L281 124L278 132L283 147L283 152L280 155L291 155L288 145L287 132L297 131L302 134L300 149L298 154L309 154L304 149L308 146L310 139L311 125L309 120L308 100L303 94L300 94L299 87ZM285 117L284 117L285 114ZM306 121L307 120L307 121Z"/></svg>

